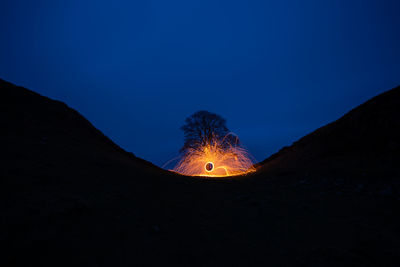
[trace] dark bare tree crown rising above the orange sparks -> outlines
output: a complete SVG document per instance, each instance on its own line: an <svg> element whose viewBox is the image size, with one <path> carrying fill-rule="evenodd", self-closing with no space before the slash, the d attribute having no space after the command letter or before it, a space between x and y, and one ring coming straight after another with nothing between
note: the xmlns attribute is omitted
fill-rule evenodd
<svg viewBox="0 0 400 267"><path fill-rule="evenodd" d="M219 145L221 148L238 143L237 137L229 135L226 120L221 116L208 111L197 111L186 118L181 127L185 142L181 152L189 149L199 149L207 145Z"/></svg>

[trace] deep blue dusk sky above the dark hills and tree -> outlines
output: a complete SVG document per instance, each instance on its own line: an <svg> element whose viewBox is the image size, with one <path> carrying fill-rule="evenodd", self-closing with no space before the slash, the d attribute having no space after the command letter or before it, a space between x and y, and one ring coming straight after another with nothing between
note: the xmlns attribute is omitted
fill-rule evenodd
<svg viewBox="0 0 400 267"><path fill-rule="evenodd" d="M400 1L2 1L0 77L162 165L198 110L259 161L400 84Z"/></svg>

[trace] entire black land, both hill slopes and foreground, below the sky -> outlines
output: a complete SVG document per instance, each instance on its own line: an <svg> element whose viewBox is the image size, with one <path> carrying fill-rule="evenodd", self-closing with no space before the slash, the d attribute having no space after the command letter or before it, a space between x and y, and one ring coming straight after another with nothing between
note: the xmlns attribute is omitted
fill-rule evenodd
<svg viewBox="0 0 400 267"><path fill-rule="evenodd" d="M0 266L400 266L400 88L202 179L0 80Z"/></svg>

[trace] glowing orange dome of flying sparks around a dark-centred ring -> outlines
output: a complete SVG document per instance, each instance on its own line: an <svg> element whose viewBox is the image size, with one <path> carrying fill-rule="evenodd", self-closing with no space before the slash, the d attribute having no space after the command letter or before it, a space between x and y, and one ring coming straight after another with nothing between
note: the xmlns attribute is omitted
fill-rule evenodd
<svg viewBox="0 0 400 267"><path fill-rule="evenodd" d="M255 171L250 154L238 145L222 145L213 140L196 149L188 149L173 171L189 176L232 176Z"/></svg>

